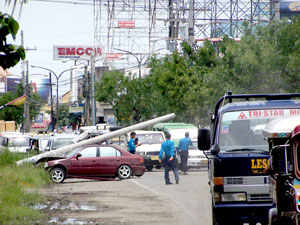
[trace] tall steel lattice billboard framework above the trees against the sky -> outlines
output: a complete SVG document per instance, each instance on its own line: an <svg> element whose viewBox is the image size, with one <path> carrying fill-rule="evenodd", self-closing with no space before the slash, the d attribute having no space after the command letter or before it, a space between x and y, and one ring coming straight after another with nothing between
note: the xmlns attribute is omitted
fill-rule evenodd
<svg viewBox="0 0 300 225"><path fill-rule="evenodd" d="M255 30L273 20L272 0L93 0L96 46L111 67L143 64L179 43ZM105 55L106 54L106 55Z"/></svg>

